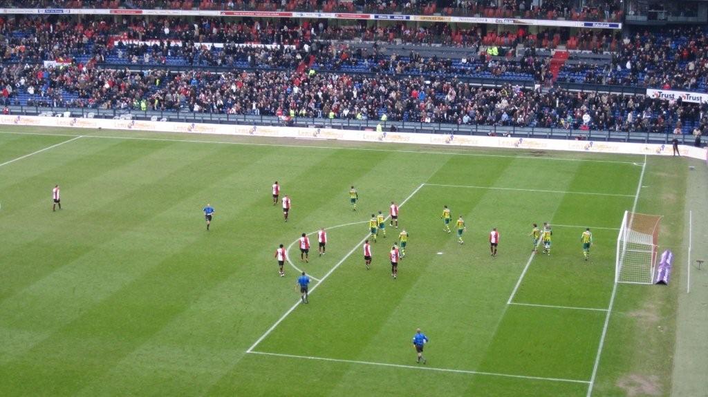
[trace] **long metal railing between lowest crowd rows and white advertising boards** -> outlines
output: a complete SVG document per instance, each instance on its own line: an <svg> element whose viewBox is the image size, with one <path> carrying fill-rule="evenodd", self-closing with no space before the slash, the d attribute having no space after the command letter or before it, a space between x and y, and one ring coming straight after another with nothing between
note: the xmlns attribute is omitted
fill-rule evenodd
<svg viewBox="0 0 708 397"><path fill-rule="evenodd" d="M275 116L251 115L251 114L218 114L218 113L195 113L195 112L160 112L160 111L140 111L129 109L93 109L89 107L34 107L34 106L9 106L9 111L13 115L34 116L40 114L57 114L62 116L65 112L70 112L70 117L96 117L104 119L119 118L130 115L132 119L139 120L162 120L169 122L187 123L215 123L215 124L240 124L249 126L300 126L313 128L334 128L353 131L363 131L369 129L375 131L378 124L382 124L384 131L391 131L395 126L399 132L421 132L427 134L454 134L454 135L476 135L476 136L513 136L515 138L553 138L572 139L578 141L612 141L612 142L633 142L633 143L658 143L670 144L673 138L679 143L692 145L695 137L689 134L672 135L646 131L607 131L561 128L539 128L520 126L488 126L476 124L445 124L445 123L421 123L421 122L380 122L379 120L355 120L355 119L323 119L312 117L294 117L289 122ZM89 115L92 114L92 115Z"/></svg>

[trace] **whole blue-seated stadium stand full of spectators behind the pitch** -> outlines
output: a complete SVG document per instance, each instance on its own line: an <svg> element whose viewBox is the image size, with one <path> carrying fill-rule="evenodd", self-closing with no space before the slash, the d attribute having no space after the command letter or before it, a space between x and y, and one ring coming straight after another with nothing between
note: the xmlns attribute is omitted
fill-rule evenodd
<svg viewBox="0 0 708 397"><path fill-rule="evenodd" d="M171 6L28 6L77 4ZM345 4L355 11L454 6L489 13L487 1ZM622 15L620 4L549 0L532 8L530 1L503 0L490 15L501 10L612 20ZM233 6L239 5L244 3ZM706 93L707 34L695 25L613 32L290 18L3 16L0 105L693 134L705 131L708 104L649 97L644 88Z"/></svg>

